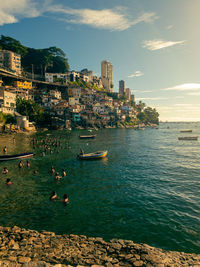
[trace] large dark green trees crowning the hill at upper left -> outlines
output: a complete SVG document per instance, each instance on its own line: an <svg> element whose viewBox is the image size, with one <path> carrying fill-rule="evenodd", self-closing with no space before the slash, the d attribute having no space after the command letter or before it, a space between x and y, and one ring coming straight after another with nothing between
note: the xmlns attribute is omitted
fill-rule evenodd
<svg viewBox="0 0 200 267"><path fill-rule="evenodd" d="M44 74L45 72L69 71L68 59L62 49L55 46L35 49L22 45L18 40L1 35L0 49L10 50L21 55L22 67L27 72Z"/></svg>

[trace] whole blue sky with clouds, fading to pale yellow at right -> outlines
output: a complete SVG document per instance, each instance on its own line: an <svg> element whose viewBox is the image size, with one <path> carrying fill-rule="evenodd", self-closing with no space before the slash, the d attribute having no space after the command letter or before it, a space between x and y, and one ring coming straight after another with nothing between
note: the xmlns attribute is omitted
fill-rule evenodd
<svg viewBox="0 0 200 267"><path fill-rule="evenodd" d="M1 0L0 35L57 46L71 70L119 80L161 121L200 121L200 0Z"/></svg>

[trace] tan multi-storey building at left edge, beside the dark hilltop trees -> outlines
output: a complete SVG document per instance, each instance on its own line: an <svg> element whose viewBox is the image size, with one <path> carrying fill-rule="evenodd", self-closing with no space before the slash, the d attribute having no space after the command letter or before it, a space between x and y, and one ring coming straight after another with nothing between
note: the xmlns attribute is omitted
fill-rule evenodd
<svg viewBox="0 0 200 267"><path fill-rule="evenodd" d="M8 50L0 50L0 67L6 67L15 74L21 75L21 56Z"/></svg>

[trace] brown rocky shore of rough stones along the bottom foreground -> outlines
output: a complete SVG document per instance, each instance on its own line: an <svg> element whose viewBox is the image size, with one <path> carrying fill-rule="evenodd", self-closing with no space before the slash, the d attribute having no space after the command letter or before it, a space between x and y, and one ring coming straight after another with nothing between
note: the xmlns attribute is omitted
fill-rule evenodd
<svg viewBox="0 0 200 267"><path fill-rule="evenodd" d="M200 255L164 251L146 244L84 235L0 227L0 266L200 266Z"/></svg>

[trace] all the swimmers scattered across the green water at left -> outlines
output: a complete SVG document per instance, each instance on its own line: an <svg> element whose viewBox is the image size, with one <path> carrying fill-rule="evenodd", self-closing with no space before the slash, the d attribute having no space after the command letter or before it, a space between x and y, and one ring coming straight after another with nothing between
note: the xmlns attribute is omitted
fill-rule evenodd
<svg viewBox="0 0 200 267"><path fill-rule="evenodd" d="M44 138L42 140L38 140L38 139L32 139L32 145L33 145L33 149L36 149L36 148L39 148L39 149L42 149L42 155L46 155L48 152L50 154L53 154L53 148L54 148L54 151L56 148L63 148L63 145L61 144L61 141L56 139L56 138ZM69 142L67 141L65 143L65 148L69 149ZM6 154L7 153L7 147L4 146L3 148L3 153ZM58 151L57 151L58 153ZM30 161L29 160L26 160L26 162L24 163L22 160L19 161L18 163L18 168L19 169L23 169L24 167L27 167L27 168L30 168L31 164L30 164ZM7 167L4 167L3 168L3 171L2 173L7 175L8 174L8 168ZM55 170L55 168L53 166L51 166L49 172L54 175L55 177L55 180L59 181L61 180L63 177L67 176L67 173L65 171L65 169L62 169L62 174L60 175L58 171ZM38 170L34 170L33 171L33 175L38 175L39 172ZM12 181L10 178L7 178L6 179L6 185L7 186L10 186L12 185ZM52 194L50 195L49 199L51 201L55 201L55 200L58 200L58 201L61 201L63 202L64 204L67 204L69 202L69 198L68 198L68 195L67 194L64 194L63 195L63 199L60 200L59 197L57 196L57 193L55 191L52 192Z"/></svg>

